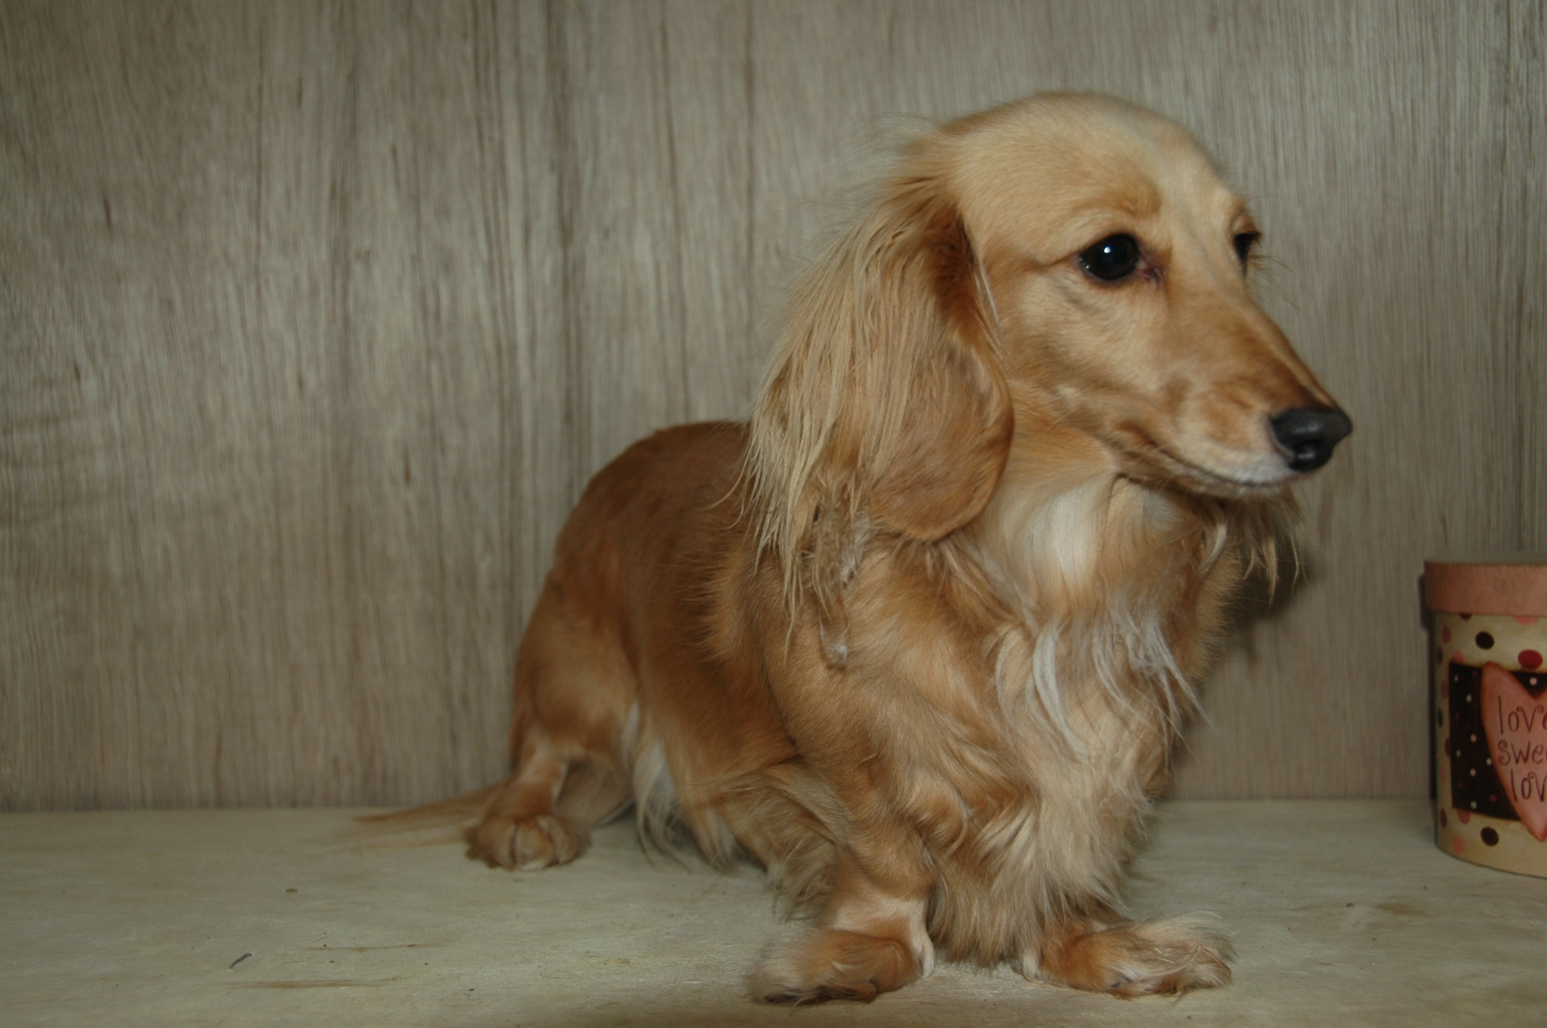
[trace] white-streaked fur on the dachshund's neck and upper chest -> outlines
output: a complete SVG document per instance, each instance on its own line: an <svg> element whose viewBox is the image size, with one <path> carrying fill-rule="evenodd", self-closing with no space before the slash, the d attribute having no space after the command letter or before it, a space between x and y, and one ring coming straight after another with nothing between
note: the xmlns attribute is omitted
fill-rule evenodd
<svg viewBox="0 0 1547 1028"><path fill-rule="evenodd" d="M1225 533L1208 505L1123 475L1088 437L1019 437L970 533L1012 616L1001 694L1029 700L1041 735L1077 752L1112 731L1170 737L1193 706L1214 621L1200 587Z"/></svg>

